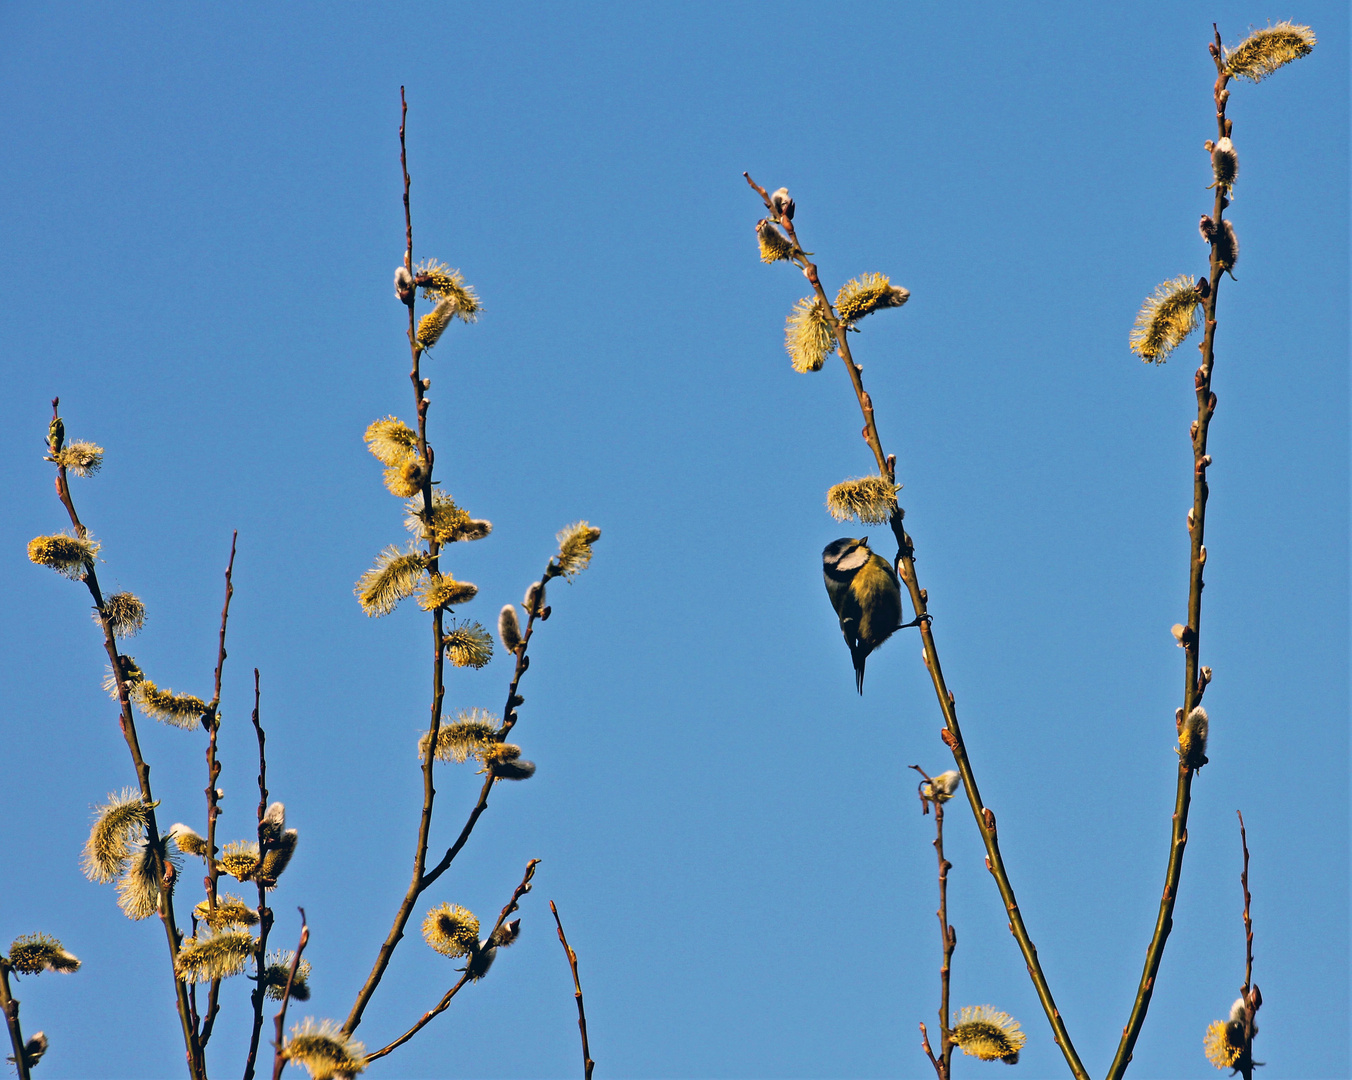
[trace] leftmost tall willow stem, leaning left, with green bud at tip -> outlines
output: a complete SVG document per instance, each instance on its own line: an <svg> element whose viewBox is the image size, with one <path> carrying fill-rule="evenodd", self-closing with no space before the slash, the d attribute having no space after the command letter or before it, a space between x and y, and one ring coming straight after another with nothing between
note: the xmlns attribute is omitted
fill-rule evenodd
<svg viewBox="0 0 1352 1080"><path fill-rule="evenodd" d="M59 397L51 399L53 419L57 418L57 408L59 404ZM88 537L89 530L87 530L81 523L80 515L76 512L74 500L70 497L70 484L66 477L66 466L59 462L57 464L57 497L66 508L66 514L70 516L70 524L74 526L80 538L84 539ZM146 760L141 753L141 742L137 738L137 722L131 715L131 697L128 696L127 683L123 679L122 664L119 662L120 657L118 654L118 639L112 633L112 624L108 622L108 614L103 602L103 591L99 588L99 574L92 562L85 565L84 583L89 589L89 596L93 599L95 610L99 614L99 626L103 629L103 647L108 653L108 662L112 665L112 677L116 681L118 688L118 706L120 710L119 725L122 727L122 737L131 754L131 764L137 770L137 781L141 788L141 802L145 806L146 843L149 845L155 876L161 883L158 914L160 921L164 923L165 939L169 945L169 969L173 976L174 1003L178 1010L178 1022L183 1029L184 1050L188 1058L188 1073L195 1080L206 1080L206 1065L201 1057L201 1045L197 1041L197 1029L193 1023L192 1008L188 1003L188 989L184 981L178 977L174 966L174 961L178 957L178 945L183 939L183 935L178 933L173 910L174 870L169 860L164 857L164 849L160 839L160 826L155 819L155 799L150 789L150 765L146 764Z"/></svg>

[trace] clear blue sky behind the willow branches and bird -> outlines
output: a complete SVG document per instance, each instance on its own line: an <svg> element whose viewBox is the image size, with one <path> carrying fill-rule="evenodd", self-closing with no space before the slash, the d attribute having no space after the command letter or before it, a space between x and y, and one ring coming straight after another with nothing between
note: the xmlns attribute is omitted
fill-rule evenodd
<svg viewBox="0 0 1352 1080"><path fill-rule="evenodd" d="M1244 961L1237 808L1259 1057L1345 1075L1348 12L1315 0L7 5L0 937L47 930L84 960L20 984L51 1038L39 1075L181 1075L160 927L78 869L89 807L134 777L87 596L23 554L65 524L41 460L53 395L108 450L76 497L104 583L149 606L132 650L161 684L210 696L239 530L220 829L253 829L258 666L272 789L301 837L279 937L297 904L314 931L297 1018L346 1014L403 893L427 631L352 596L404 535L361 443L377 416L411 419L400 84L416 253L485 304L426 366L438 474L495 523L452 560L481 589L464 614L518 600L566 522L606 533L533 646L515 734L538 776L495 792L423 904L492 918L539 857L522 941L370 1075L577 1075L550 898L599 1077L930 1075L933 819L906 766L949 757L914 631L854 695L819 566L850 527L822 500L871 460L838 361L788 366L806 287L757 261L744 169L792 189L829 288L879 270L913 292L857 355L1021 904L1102 1075L1167 856L1195 415L1192 343L1148 368L1126 337L1156 283L1206 265L1211 20L1234 43L1280 18L1321 43L1230 101L1211 764L1132 1075L1217 1075L1202 1034ZM457 672L448 706L500 710L507 679L500 658ZM146 720L142 742L162 819L200 823L203 738ZM470 766L441 772L434 843L476 789ZM1013 1012L1017 1075L1061 1076L969 814L949 820L955 1006ZM368 1045L452 968L412 934ZM242 1068L246 992L224 995L215 1076Z"/></svg>

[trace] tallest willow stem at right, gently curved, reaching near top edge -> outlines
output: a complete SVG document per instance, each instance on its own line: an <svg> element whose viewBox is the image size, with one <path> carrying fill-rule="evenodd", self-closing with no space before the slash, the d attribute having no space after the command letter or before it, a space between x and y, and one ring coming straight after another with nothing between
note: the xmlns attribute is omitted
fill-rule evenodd
<svg viewBox="0 0 1352 1080"><path fill-rule="evenodd" d="M1213 27L1214 30L1214 27ZM1215 61L1215 88L1213 97L1215 101L1215 127L1218 138L1230 134L1230 120L1225 116L1225 105L1229 91L1229 74L1225 70L1224 53L1221 50L1221 32L1215 30L1215 41L1210 46L1211 57ZM1213 211L1217 230L1221 228L1222 214L1229 205L1224 185L1215 185L1215 207ZM1198 649L1202 634L1202 568L1206 564L1206 500L1207 483L1206 469L1211 458L1206 453L1206 435L1215 412L1215 395L1211 392L1211 369L1215 364L1215 305L1221 292L1221 276L1224 268L1217 253L1217 245L1211 243L1211 273L1210 292L1206 296L1205 311L1206 324L1202 334L1202 365L1197 369L1194 387L1197 389L1197 420L1192 422L1192 510L1188 514L1188 533L1191 551L1188 558L1188 597L1187 597L1187 627L1183 633L1182 645L1184 649L1183 673L1183 711L1186 718L1202 702L1206 689L1206 680L1198 666ZM1151 1007L1151 995L1155 992L1155 977L1160 971L1160 961L1164 958L1164 946L1168 942L1169 931L1174 929L1174 904L1178 900L1179 880L1183 876L1183 852L1187 848L1187 815L1192 800L1194 769L1179 758L1178 789L1174 797L1174 819L1169 834L1169 858L1164 873L1164 895L1160 899L1160 912L1155 921L1155 933L1145 950L1145 968L1141 972L1141 981L1136 991L1136 1000L1132 1003L1132 1014L1122 1029L1122 1039L1118 1044L1113 1066L1107 1072L1106 1080L1121 1080L1126 1066L1132 1062L1132 1049L1140 1038L1141 1027L1145 1023L1145 1014Z"/></svg>

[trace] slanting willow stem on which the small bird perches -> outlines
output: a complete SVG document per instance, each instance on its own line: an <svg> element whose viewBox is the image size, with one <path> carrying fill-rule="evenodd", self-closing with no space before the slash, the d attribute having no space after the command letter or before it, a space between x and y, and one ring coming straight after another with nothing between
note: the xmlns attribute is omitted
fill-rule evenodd
<svg viewBox="0 0 1352 1080"><path fill-rule="evenodd" d="M836 308L831 305L831 301L826 296L826 291L822 288L822 283L817 276L817 266L807 258L806 254L802 254L803 246L798 242L798 235L794 231L794 222L790 219L788 214L776 212L769 193L746 173L742 173L742 176L745 176L746 182L757 193L760 193L765 207L798 249L799 254L795 255L794 262L803 270L803 276L811 283L813 291L817 293L817 299L822 304L826 319L833 334L836 335L841 360L845 364L850 384L854 388L854 396L859 399L860 412L864 416L864 430L861 433L864 441L868 443L869 450L873 451L879 473L884 476L888 483L895 484L896 458L883 453L883 442L879 438L877 423L873 416L873 401L864 389L863 368L854 362L854 358L850 354L846 327L836 316ZM896 570L902 581L906 584L906 589L911 597L911 607L915 610L915 620L919 626L921 641L925 649L925 666L929 669L930 681L934 684L934 693L938 697L940 712L944 715L944 743L949 747L949 750L952 750L953 761L957 764L957 772L963 777L963 789L967 792L967 802L972 807L972 815L976 819L976 829L982 834L982 843L986 846L986 866L995 879L1000 900L1003 900L1005 910L1009 914L1010 933L1014 935L1014 941L1018 942L1019 952L1028 965L1028 973L1033 980L1033 988L1037 991L1038 1002L1041 1002L1042 1011L1046 1014L1046 1019L1052 1025L1056 1045L1061 1048L1065 1064L1069 1065L1076 1080L1088 1080L1088 1072L1080 1062L1079 1054L1075 1052L1075 1045L1071 1042L1071 1034L1065 1027L1065 1022L1061 1019L1061 1014L1056 1007L1056 999L1052 996L1052 988L1048 984L1046 976L1042 972L1042 965L1037 958L1037 946L1033 945L1028 927L1023 925L1023 915L1019 911L1018 900L1014 896L1014 885L1010 883L1009 872L1005 869L1005 860L1000 856L999 839L995 830L995 814L982 802L982 795L976 785L976 775L972 770L972 764L967 756L967 747L963 742L963 730L957 723L956 699L953 697L952 691L949 691L948 684L944 681L944 670L938 661L938 646L934 642L934 633L930 626L932 619L927 608L929 595L921 588L919 579L915 574L915 546L902 524L902 518L903 511L898 507L892 512L890 522L898 547Z"/></svg>

